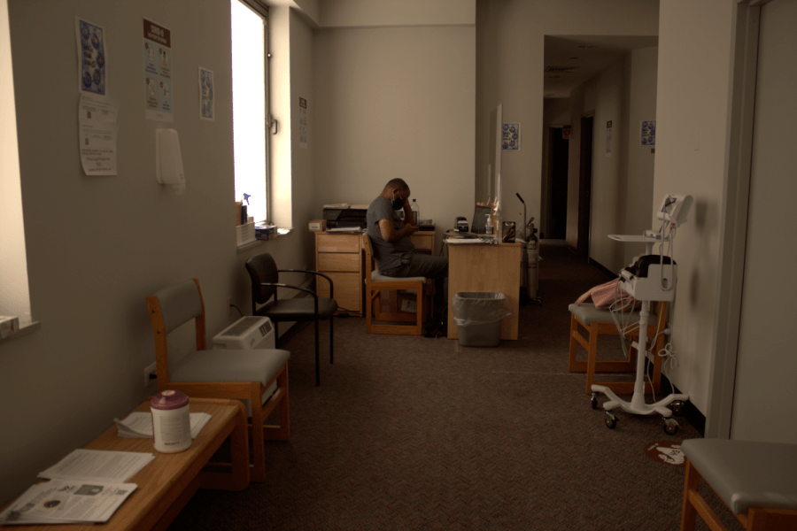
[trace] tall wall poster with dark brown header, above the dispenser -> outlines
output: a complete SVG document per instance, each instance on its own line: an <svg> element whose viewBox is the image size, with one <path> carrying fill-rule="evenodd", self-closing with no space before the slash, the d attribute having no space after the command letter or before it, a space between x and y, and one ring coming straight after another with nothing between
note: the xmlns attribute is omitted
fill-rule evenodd
<svg viewBox="0 0 797 531"><path fill-rule="evenodd" d="M146 119L174 122L172 32L143 19L144 101Z"/></svg>

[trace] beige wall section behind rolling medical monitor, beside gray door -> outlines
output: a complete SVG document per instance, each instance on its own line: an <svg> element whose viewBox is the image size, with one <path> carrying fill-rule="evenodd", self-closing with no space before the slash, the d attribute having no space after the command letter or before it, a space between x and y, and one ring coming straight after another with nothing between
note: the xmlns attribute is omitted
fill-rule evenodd
<svg viewBox="0 0 797 531"><path fill-rule="evenodd" d="M662 2L654 203L667 193L694 197L678 229L672 380L707 412L720 214L728 153L731 13L724 0ZM697 51L699 50L699 52ZM658 198L659 201L655 199ZM655 223L651 215L651 223Z"/></svg>

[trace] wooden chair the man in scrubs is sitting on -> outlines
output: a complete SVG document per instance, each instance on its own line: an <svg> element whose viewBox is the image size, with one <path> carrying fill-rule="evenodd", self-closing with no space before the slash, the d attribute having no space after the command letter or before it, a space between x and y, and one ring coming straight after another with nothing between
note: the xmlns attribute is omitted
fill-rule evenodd
<svg viewBox="0 0 797 531"><path fill-rule="evenodd" d="M428 290L431 279L426 277L391 277L379 273L368 235L362 235L365 250L366 285L366 332L368 334L422 335L426 319ZM414 312L401 312L400 306L383 312L383 294L396 292L400 296L411 295ZM395 297L396 299L399 296ZM398 300L391 304L400 304Z"/></svg>

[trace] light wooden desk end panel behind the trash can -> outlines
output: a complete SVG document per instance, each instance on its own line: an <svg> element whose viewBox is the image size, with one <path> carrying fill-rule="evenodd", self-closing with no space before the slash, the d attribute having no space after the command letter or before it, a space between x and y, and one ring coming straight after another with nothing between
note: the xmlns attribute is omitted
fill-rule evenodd
<svg viewBox="0 0 797 531"><path fill-rule="evenodd" d="M463 291L503 293L514 316L501 319L501 339L517 339L522 243L451 243L448 249L448 338L459 339L453 324L453 296Z"/></svg>

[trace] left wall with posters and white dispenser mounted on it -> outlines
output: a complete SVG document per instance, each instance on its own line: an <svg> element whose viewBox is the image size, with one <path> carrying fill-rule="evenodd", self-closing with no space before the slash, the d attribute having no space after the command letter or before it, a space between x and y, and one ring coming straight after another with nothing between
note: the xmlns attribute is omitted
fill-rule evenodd
<svg viewBox="0 0 797 531"><path fill-rule="evenodd" d="M298 232L236 253L227 2L197 10L187 0L11 0L9 12L30 299L42 329L0 345L0 399L13 404L0 413L7 435L0 503L151 392L142 383L143 367L154 361L146 296L198 277L210 337L234 320L227 297L249 312L245 258L267 251L292 267L312 257L309 238ZM76 15L107 32L108 88L120 104L117 176L81 170ZM174 38L173 124L143 117L143 17ZM309 32L293 30L295 56L308 58ZM199 65L215 73L214 122L198 119ZM297 90L310 86L300 80ZM155 181L158 127L179 132L183 196ZM312 171L305 158L293 161L303 187ZM310 201L299 195L293 207L307 212ZM178 353L190 348L189 333L174 339Z"/></svg>

